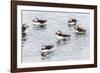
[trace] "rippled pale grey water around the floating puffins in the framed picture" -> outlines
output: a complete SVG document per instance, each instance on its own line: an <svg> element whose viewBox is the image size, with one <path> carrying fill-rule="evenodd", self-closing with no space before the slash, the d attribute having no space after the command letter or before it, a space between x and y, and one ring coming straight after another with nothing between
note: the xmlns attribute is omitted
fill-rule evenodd
<svg viewBox="0 0 100 73"><path fill-rule="evenodd" d="M73 26L69 27L67 21L74 16L84 25L86 34L76 34ZM47 20L46 27L37 29L32 24L34 18ZM52 62L88 60L90 58L90 14L75 12L48 12L48 11L22 11L22 24L27 24L26 35L22 37L22 62ZM66 41L58 41L55 32L61 30L71 37ZM55 50L41 55L42 45L54 44Z"/></svg>

